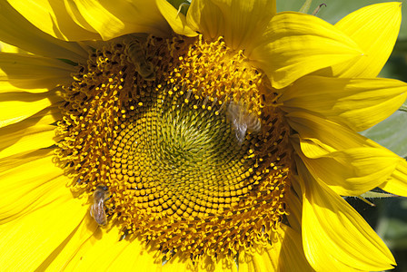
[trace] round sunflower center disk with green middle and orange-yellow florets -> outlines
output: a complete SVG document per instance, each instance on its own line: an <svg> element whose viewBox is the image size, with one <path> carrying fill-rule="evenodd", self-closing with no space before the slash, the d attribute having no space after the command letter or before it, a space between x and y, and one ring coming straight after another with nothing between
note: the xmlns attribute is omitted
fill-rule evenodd
<svg viewBox="0 0 407 272"><path fill-rule="evenodd" d="M57 158L107 220L175 252L235 256L285 214L290 149L262 73L222 39L124 40L65 87ZM102 211L103 212L103 211Z"/></svg>

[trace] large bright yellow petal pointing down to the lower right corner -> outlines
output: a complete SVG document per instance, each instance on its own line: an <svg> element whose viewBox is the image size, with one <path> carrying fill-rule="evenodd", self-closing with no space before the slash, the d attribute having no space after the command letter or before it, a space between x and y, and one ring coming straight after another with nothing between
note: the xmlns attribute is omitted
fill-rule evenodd
<svg viewBox="0 0 407 272"><path fill-rule="evenodd" d="M392 253L369 224L333 190L303 177L303 248L317 271L392 269Z"/></svg>

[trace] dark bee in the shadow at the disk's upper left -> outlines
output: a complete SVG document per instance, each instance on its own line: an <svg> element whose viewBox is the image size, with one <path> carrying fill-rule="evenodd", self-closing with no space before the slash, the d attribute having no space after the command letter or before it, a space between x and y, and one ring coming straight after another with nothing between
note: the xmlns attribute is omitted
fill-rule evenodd
<svg viewBox="0 0 407 272"><path fill-rule="evenodd" d="M140 41L134 39L128 44L127 55L130 62L134 64L135 71L139 73L144 80L154 81L154 65L145 57L143 45Z"/></svg>

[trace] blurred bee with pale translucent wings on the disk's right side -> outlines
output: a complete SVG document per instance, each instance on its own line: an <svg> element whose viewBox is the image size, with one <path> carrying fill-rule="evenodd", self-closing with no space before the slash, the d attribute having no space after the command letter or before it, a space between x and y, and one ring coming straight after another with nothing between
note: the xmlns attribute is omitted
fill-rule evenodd
<svg viewBox="0 0 407 272"><path fill-rule="evenodd" d="M239 145L243 143L246 132L258 132L262 128L259 118L254 113L248 112L243 103L229 102L226 116L232 122Z"/></svg>

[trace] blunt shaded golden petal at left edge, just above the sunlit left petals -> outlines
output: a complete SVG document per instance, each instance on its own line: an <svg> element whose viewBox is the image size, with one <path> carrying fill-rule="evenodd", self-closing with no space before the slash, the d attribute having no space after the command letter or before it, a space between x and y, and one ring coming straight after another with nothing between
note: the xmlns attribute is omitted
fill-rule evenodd
<svg viewBox="0 0 407 272"><path fill-rule="evenodd" d="M0 80L22 89L53 89L71 83L77 68L60 60L41 56L0 53Z"/></svg>

